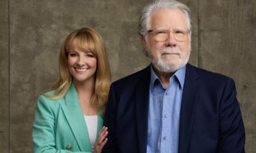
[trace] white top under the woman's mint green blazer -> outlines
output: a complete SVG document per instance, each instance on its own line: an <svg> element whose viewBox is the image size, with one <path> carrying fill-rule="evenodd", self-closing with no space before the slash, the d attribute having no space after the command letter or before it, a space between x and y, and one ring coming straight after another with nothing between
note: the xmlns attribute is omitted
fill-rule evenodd
<svg viewBox="0 0 256 153"><path fill-rule="evenodd" d="M96 141L96 135L97 135L98 115L84 116L84 117L87 125L87 130L89 133L89 139L91 141L91 149L92 151L94 151L94 143Z"/></svg>

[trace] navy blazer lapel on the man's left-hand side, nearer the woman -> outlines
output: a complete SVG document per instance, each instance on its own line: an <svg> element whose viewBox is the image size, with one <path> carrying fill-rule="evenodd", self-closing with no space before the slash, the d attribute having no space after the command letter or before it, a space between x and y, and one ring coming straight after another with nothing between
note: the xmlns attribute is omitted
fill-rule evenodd
<svg viewBox="0 0 256 153"><path fill-rule="evenodd" d="M139 152L147 151L147 114L150 90L150 66L144 69L135 90L135 113Z"/></svg>

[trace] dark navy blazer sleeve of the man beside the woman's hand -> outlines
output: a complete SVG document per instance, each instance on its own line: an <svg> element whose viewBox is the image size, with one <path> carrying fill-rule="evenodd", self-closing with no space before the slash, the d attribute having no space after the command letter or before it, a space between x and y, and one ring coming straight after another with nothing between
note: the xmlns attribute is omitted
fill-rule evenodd
<svg viewBox="0 0 256 153"><path fill-rule="evenodd" d="M117 114L117 99L115 97L115 90L113 85L109 90L109 100L106 105L106 114L104 116L104 126L108 127L109 134L108 141L104 146L102 153L115 153L117 152L117 140L115 138L115 118Z"/></svg>

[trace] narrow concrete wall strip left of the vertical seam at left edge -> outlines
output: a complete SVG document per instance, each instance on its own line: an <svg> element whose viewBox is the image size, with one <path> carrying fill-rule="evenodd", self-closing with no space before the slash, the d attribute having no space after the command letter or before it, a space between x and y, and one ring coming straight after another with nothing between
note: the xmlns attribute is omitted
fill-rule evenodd
<svg viewBox="0 0 256 153"><path fill-rule="evenodd" d="M9 49L8 3L0 1L0 148L9 150Z"/></svg>

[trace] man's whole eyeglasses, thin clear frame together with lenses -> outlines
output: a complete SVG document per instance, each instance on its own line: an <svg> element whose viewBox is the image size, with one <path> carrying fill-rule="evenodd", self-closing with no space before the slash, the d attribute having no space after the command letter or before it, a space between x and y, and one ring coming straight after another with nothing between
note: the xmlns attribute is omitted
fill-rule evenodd
<svg viewBox="0 0 256 153"><path fill-rule="evenodd" d="M167 30L167 29L152 29L147 31L147 33L153 33L154 34L154 40L155 41L166 41L167 38L170 36L170 33L173 33L174 39L176 41L185 41L187 39L189 31L182 31L173 29L173 31Z"/></svg>

